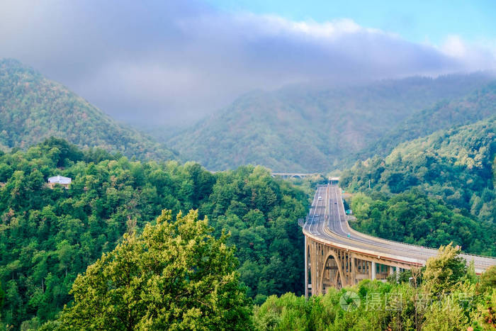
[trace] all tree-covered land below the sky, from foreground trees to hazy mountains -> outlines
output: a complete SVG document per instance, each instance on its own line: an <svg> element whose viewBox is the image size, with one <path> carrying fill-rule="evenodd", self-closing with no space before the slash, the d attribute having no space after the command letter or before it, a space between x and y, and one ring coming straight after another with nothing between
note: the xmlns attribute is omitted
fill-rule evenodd
<svg viewBox="0 0 496 331"><path fill-rule="evenodd" d="M475 276L453 248L496 256L491 79L254 92L169 140L208 169L329 170L375 155L341 174L351 226L445 245L422 270L305 300L298 218L324 176L181 164L60 84L1 60L0 327L495 327L496 268ZM47 186L57 175L72 184Z"/></svg>

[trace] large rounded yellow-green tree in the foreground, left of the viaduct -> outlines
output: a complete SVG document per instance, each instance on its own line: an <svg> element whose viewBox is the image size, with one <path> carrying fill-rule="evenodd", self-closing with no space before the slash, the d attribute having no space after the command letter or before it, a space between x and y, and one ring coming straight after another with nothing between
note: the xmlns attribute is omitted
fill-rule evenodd
<svg viewBox="0 0 496 331"><path fill-rule="evenodd" d="M246 330L249 299L234 248L216 240L198 213L163 211L142 235L125 235L77 277L62 330Z"/></svg>

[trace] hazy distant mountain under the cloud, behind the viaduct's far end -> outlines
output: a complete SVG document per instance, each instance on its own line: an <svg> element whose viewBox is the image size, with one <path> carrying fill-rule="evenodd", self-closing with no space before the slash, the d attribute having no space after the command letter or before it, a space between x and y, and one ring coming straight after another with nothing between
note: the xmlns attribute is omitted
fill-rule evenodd
<svg viewBox="0 0 496 331"><path fill-rule="evenodd" d="M415 111L491 80L490 74L470 74L253 92L167 144L208 169L252 163L274 171L329 171Z"/></svg>

